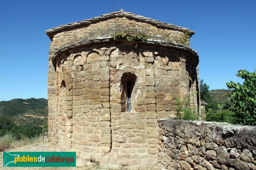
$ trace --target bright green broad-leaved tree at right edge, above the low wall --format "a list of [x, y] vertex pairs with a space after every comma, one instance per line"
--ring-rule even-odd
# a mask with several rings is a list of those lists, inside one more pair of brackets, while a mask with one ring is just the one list
[[229, 108], [234, 112], [235, 123], [243, 125], [256, 125], [256, 72], [248, 72], [239, 70], [237, 77], [243, 78], [244, 83], [227, 83], [231, 94], [228, 95], [228, 101], [231, 101], [234, 107], [230, 108], [230, 104], [221, 105], [220, 107]]

